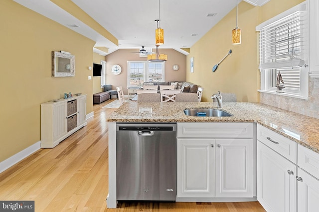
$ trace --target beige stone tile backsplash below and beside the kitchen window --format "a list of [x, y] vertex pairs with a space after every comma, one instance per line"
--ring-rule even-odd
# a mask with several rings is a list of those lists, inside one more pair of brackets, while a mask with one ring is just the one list
[[319, 119], [319, 78], [309, 79], [310, 100], [260, 93], [260, 102]]

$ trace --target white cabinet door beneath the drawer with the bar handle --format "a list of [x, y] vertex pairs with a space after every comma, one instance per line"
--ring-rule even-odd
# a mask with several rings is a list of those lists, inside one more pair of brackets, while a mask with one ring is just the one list
[[296, 171], [295, 164], [257, 141], [257, 199], [267, 212], [296, 212]]

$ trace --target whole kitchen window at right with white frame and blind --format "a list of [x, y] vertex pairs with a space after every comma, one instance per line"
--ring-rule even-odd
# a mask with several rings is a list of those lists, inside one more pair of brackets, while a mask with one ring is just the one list
[[256, 27], [260, 31], [261, 92], [276, 93], [280, 71], [284, 94], [308, 98], [307, 2], [303, 2]]

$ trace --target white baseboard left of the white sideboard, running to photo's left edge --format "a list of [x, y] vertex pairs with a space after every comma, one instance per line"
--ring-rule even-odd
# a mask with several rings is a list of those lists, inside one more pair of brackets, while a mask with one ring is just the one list
[[10, 168], [11, 166], [16, 164], [17, 162], [21, 161], [22, 159], [26, 158], [27, 156], [29, 156], [30, 154], [32, 154], [36, 150], [40, 149], [40, 143], [41, 143], [41, 141], [38, 141], [38, 142], [30, 145], [29, 147], [26, 147], [22, 151], [16, 153], [15, 155], [12, 155], [11, 157], [0, 162], [0, 173], [3, 172], [4, 170]]

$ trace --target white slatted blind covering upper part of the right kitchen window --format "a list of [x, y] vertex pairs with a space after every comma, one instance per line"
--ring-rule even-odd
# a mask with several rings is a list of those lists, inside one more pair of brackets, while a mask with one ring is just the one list
[[260, 29], [260, 69], [302, 67], [305, 11], [296, 11]]

